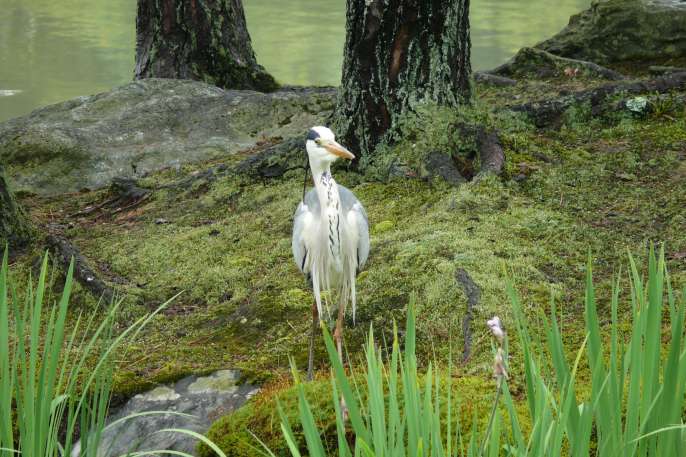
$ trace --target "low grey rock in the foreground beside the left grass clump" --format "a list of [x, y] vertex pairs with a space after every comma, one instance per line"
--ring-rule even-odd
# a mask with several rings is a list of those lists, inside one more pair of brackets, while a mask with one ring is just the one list
[[[114, 411], [107, 423], [151, 411], [175, 414], [143, 415], [114, 425], [103, 433], [98, 456], [115, 457], [133, 451], [152, 450], [174, 450], [195, 455], [195, 438], [182, 433], [158, 432], [176, 428], [204, 434], [212, 422], [239, 408], [257, 393], [255, 386], [238, 385], [238, 379], [237, 371], [221, 370], [209, 376], [189, 376], [173, 385], [159, 386], [136, 395]], [[80, 443], [77, 443], [71, 456], [79, 455]]]

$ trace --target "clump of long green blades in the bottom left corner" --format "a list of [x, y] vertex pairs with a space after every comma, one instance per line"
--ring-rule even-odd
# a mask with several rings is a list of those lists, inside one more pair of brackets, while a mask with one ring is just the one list
[[[56, 457], [71, 455], [74, 449], [80, 456], [96, 457], [103, 432], [114, 425], [106, 425], [114, 371], [112, 356], [124, 343], [135, 339], [167, 303], [118, 335], [114, 324], [121, 301], [108, 309], [99, 307], [88, 316], [80, 314], [68, 329], [73, 262], [61, 298], [51, 308], [46, 306], [47, 272], [46, 255], [37, 283], [29, 279], [25, 296], [19, 297], [9, 279], [5, 249], [0, 266], [0, 457]], [[162, 432], [190, 435], [223, 456], [210, 440], [195, 432], [156, 431]], [[161, 452], [166, 451], [129, 455]]]

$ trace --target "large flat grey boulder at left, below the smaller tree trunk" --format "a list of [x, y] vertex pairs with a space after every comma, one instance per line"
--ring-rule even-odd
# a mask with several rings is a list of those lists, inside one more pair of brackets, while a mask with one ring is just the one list
[[107, 186], [184, 162], [234, 154], [324, 120], [334, 88], [264, 94], [146, 79], [0, 123], [0, 160], [16, 190], [58, 194]]

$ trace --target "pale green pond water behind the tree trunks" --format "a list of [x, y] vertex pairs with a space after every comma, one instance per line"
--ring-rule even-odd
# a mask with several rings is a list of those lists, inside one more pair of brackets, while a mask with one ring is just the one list
[[[559, 31], [590, 0], [472, 0], [472, 64]], [[345, 0], [244, 0], [258, 61], [282, 83], [337, 85]], [[0, 0], [0, 121], [131, 80], [136, 0]]]

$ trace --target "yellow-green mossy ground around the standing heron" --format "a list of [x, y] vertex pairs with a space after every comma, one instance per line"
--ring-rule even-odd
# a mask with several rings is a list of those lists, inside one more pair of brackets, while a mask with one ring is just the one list
[[[489, 112], [519, 91], [522, 102], [537, 97], [533, 86], [481, 88], [477, 106]], [[546, 91], [596, 84], [546, 82]], [[523, 95], [521, 95], [523, 94]], [[479, 108], [479, 109], [482, 109]], [[686, 281], [686, 113], [683, 106], [642, 117], [614, 114], [591, 119], [579, 109], [559, 130], [537, 131], [522, 119], [488, 117], [502, 133], [507, 168], [459, 188], [419, 179], [339, 169], [370, 218], [372, 253], [358, 279], [358, 313], [346, 325], [347, 347], [361, 353], [373, 325], [390, 338], [393, 321], [404, 322], [410, 294], [417, 295], [418, 353], [424, 361], [460, 353], [466, 297], [455, 279], [469, 272], [482, 290], [472, 323], [472, 357], [456, 361], [453, 375], [463, 398], [492, 388], [490, 340], [485, 320], [510, 320], [505, 285], [511, 278], [532, 319], [558, 303], [571, 347], [583, 340], [583, 279], [590, 252], [600, 301], [627, 253], [645, 254], [650, 241], [665, 242], [672, 281]], [[452, 117], [451, 117], [452, 116]], [[450, 130], [456, 114], [427, 111], [411, 132], [386, 153], [408, 158], [438, 147], [455, 154], [459, 138]], [[122, 324], [180, 294], [120, 360], [116, 389], [131, 394], [189, 372], [241, 368], [260, 379], [288, 371], [288, 357], [305, 365], [311, 296], [291, 259], [292, 215], [302, 193], [302, 174], [270, 181], [226, 173], [174, 185], [212, 164], [186, 165], [141, 181], [155, 189], [142, 205], [115, 214], [71, 214], [106, 198], [106, 191], [52, 199], [26, 197], [24, 206], [41, 223], [64, 224], [93, 267], [121, 292]], [[378, 165], [378, 164], [377, 164]], [[37, 253], [15, 260], [25, 275]], [[88, 311], [96, 299], [76, 287], [73, 312]], [[626, 310], [625, 310], [626, 311]], [[513, 386], [518, 355], [512, 351]], [[317, 365], [326, 372], [320, 344]], [[287, 388], [287, 387], [286, 387]], [[326, 383], [310, 389], [326, 389]], [[244, 433], [279, 434], [268, 396], [258, 396], [226, 419]], [[322, 395], [330, 402], [329, 396]], [[271, 402], [271, 403], [270, 403]], [[258, 422], [254, 422], [258, 421]], [[265, 422], [266, 421], [266, 422]], [[265, 425], [267, 424], [267, 425]], [[227, 427], [221, 425], [218, 427]], [[233, 428], [231, 428], [233, 427]], [[242, 428], [241, 428], [242, 427]], [[215, 429], [224, 430], [225, 428]], [[216, 433], [216, 432], [213, 432]], [[244, 436], [244, 435], [240, 435]], [[226, 442], [238, 439], [227, 437]]]

